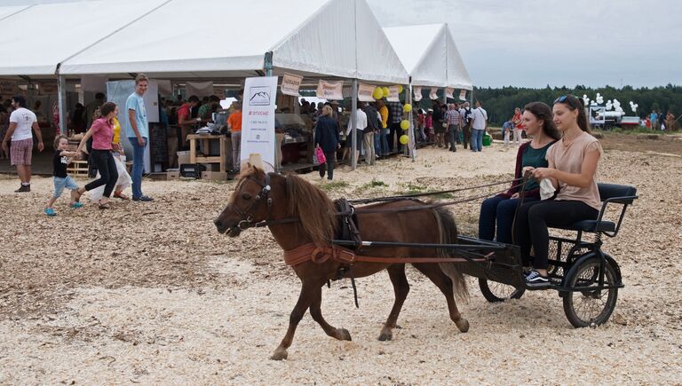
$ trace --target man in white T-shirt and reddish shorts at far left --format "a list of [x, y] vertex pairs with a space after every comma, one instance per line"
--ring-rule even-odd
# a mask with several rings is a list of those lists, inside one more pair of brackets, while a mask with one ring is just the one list
[[38, 127], [36, 114], [26, 108], [26, 98], [21, 95], [12, 97], [12, 114], [10, 115], [10, 128], [3, 138], [3, 150], [7, 153], [7, 143], [12, 139], [10, 146], [10, 161], [16, 165], [17, 174], [21, 181], [20, 188], [14, 193], [27, 193], [31, 191], [31, 157], [33, 155], [33, 136], [31, 129], [38, 139], [38, 151], [43, 151], [43, 135]]

